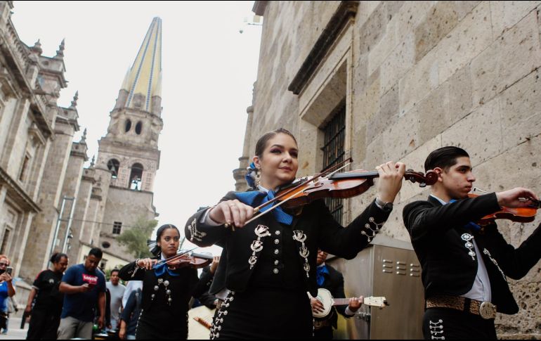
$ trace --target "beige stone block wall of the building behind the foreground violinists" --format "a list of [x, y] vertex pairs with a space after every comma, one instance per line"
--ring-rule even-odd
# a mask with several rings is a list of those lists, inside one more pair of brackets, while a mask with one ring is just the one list
[[[320, 128], [345, 101], [354, 168], [400, 160], [424, 171], [431, 150], [454, 145], [470, 153], [476, 186], [541, 193], [541, 1], [360, 1], [298, 94], [288, 87], [344, 4], [258, 2], [266, 4], [257, 13], [265, 23], [250, 157], [263, 132], [285, 127], [299, 140], [298, 175], [317, 172]], [[348, 200], [345, 220], [374, 193]], [[428, 193], [404, 184], [384, 233], [409, 240], [402, 208]], [[502, 223], [500, 230], [517, 247], [540, 222]], [[540, 266], [511, 283], [521, 311], [498, 316], [500, 336], [541, 336]]]

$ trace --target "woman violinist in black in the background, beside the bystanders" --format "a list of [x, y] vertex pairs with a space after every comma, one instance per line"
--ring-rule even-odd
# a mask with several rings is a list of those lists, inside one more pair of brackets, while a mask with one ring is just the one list
[[160, 262], [177, 255], [180, 233], [176, 226], [162, 225], [156, 233], [157, 257], [137, 259], [120, 269], [124, 281], [143, 281], [142, 312], [137, 340], [178, 340], [188, 337], [188, 302], [207, 290], [199, 284], [197, 269], [176, 262]]

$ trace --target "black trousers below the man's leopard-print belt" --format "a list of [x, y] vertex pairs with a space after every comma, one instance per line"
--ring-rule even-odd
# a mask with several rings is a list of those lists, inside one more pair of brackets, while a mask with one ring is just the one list
[[430, 308], [424, 311], [423, 336], [425, 340], [496, 340], [494, 319], [485, 320], [467, 311]]

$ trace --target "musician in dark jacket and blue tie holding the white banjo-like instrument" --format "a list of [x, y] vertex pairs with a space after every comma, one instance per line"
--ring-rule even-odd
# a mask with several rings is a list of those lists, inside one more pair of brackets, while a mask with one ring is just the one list
[[[332, 297], [334, 298], [344, 298], [344, 277], [339, 271], [335, 270], [332, 266], [325, 264], [327, 259], [327, 252], [318, 250], [318, 260], [316, 264], [318, 268], [316, 269], [316, 278], [318, 282], [318, 289], [323, 288], [330, 291]], [[323, 304], [317, 298], [311, 298], [312, 310], [322, 311]], [[323, 318], [314, 319], [314, 338], [316, 340], [328, 340], [332, 339], [332, 328], [337, 328], [338, 315], [348, 318], [353, 316], [356, 311], [359, 309], [360, 305], [363, 302], [363, 297], [352, 298], [348, 306], [342, 305], [337, 307], [332, 307], [330, 314]]]

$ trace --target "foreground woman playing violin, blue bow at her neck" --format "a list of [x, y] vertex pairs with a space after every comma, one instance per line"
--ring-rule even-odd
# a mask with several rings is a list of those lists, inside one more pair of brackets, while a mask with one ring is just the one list
[[299, 147], [285, 129], [264, 134], [255, 154], [259, 184], [252, 191], [228, 193], [216, 206], [194, 214], [185, 226], [186, 237], [196, 245], [223, 247], [212, 289], [229, 293], [216, 312], [211, 338], [311, 337], [306, 292], [317, 295], [318, 247], [346, 259], [356, 257], [389, 217], [405, 165], [387, 162], [377, 167], [378, 203], [370, 203], [346, 228], [333, 219], [322, 200], [310, 202], [297, 214], [274, 208], [246, 224], [254, 217], [254, 207], [294, 181], [299, 167]]

